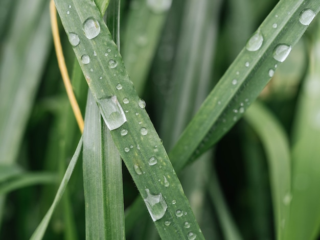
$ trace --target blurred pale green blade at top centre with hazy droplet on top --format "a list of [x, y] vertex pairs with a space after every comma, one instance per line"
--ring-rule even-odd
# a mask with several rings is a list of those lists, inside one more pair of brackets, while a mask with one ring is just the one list
[[122, 56], [135, 90], [141, 94], [172, 0], [131, 2]]

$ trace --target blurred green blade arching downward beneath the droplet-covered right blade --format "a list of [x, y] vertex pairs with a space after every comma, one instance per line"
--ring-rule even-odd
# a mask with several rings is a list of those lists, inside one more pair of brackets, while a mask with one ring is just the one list
[[277, 119], [255, 102], [244, 115], [259, 135], [269, 165], [271, 196], [277, 239], [284, 239], [291, 201], [291, 162], [287, 136]]

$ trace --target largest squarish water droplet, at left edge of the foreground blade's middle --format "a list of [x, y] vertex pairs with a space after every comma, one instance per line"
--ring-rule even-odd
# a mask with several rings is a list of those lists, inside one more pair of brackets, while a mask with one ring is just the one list
[[127, 122], [126, 115], [116, 96], [98, 99], [97, 104], [108, 129], [115, 130]]

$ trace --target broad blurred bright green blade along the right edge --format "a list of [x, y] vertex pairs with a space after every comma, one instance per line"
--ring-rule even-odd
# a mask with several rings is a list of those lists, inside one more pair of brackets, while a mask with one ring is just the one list
[[320, 28], [310, 44], [310, 60], [295, 113], [292, 147], [292, 202], [285, 239], [316, 239], [320, 227]]

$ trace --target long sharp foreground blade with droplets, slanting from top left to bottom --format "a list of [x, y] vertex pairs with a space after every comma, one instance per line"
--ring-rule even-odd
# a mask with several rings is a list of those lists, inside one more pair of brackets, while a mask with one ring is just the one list
[[[203, 239], [144, 102], [133, 89], [99, 10], [92, 2], [57, 0], [55, 3], [65, 31], [76, 45], [74, 51], [90, 90], [159, 234], [163, 239], [195, 236]], [[189, 229], [184, 227], [186, 221], [191, 225]]]

